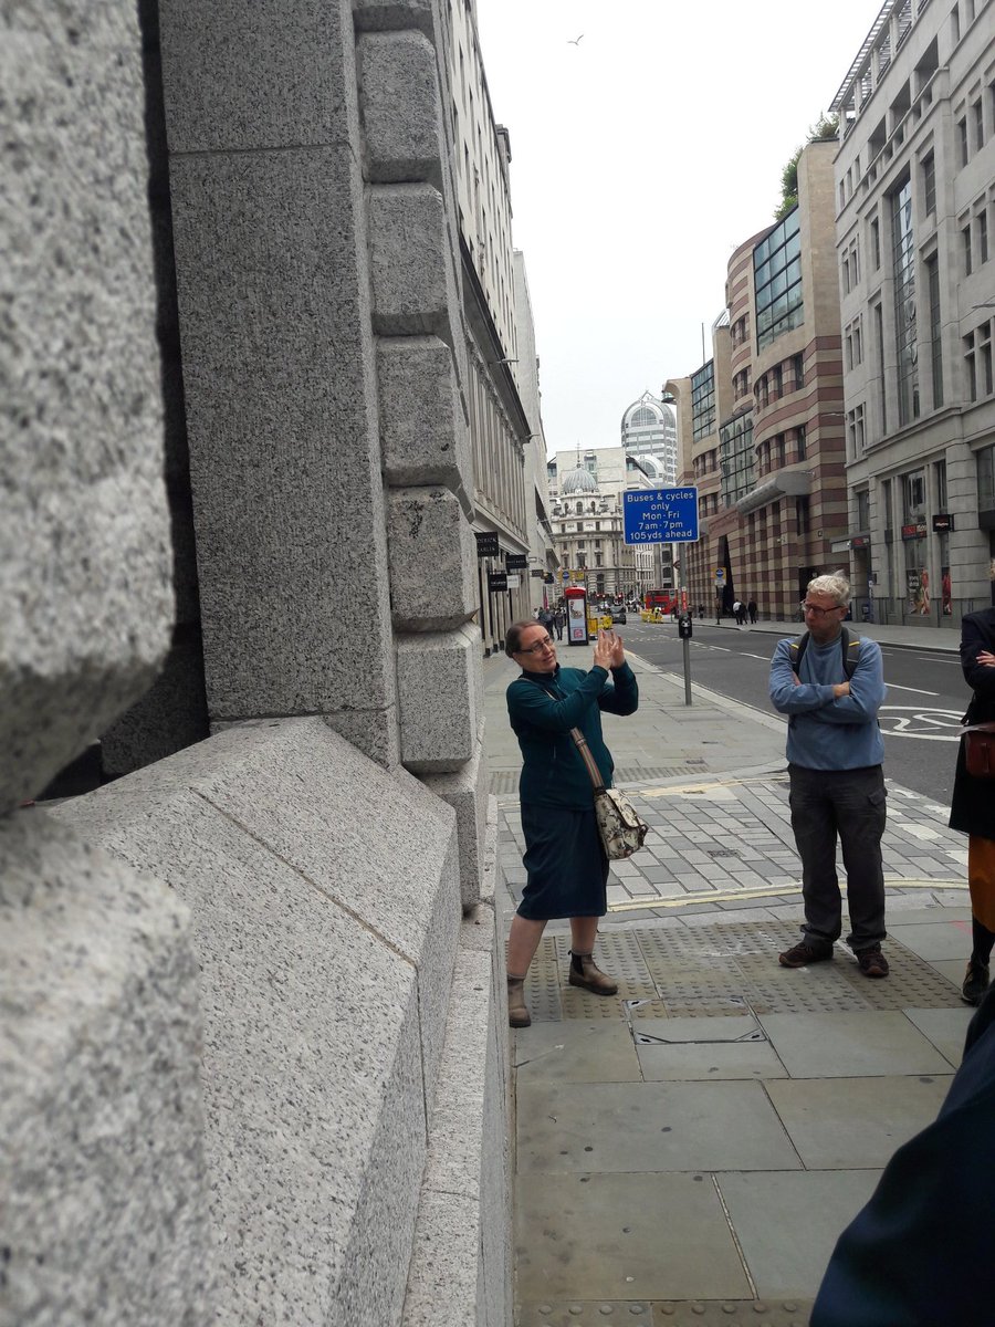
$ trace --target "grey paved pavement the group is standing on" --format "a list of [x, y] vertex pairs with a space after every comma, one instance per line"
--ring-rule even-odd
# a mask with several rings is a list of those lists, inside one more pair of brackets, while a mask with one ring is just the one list
[[[751, 630], [773, 649], [799, 626]], [[686, 706], [683, 677], [629, 657], [639, 710], [606, 715], [605, 734], [650, 835], [609, 878], [596, 957], [620, 991], [568, 986], [569, 924], [551, 922], [527, 982], [532, 1027], [509, 1031], [516, 1322], [801, 1327], [837, 1235], [959, 1064], [967, 840], [886, 764], [892, 975], [862, 977], [842, 945], [830, 963], [780, 967], [801, 920], [784, 721], [698, 686]], [[504, 707], [516, 673], [484, 664], [505, 925], [525, 882]]]

